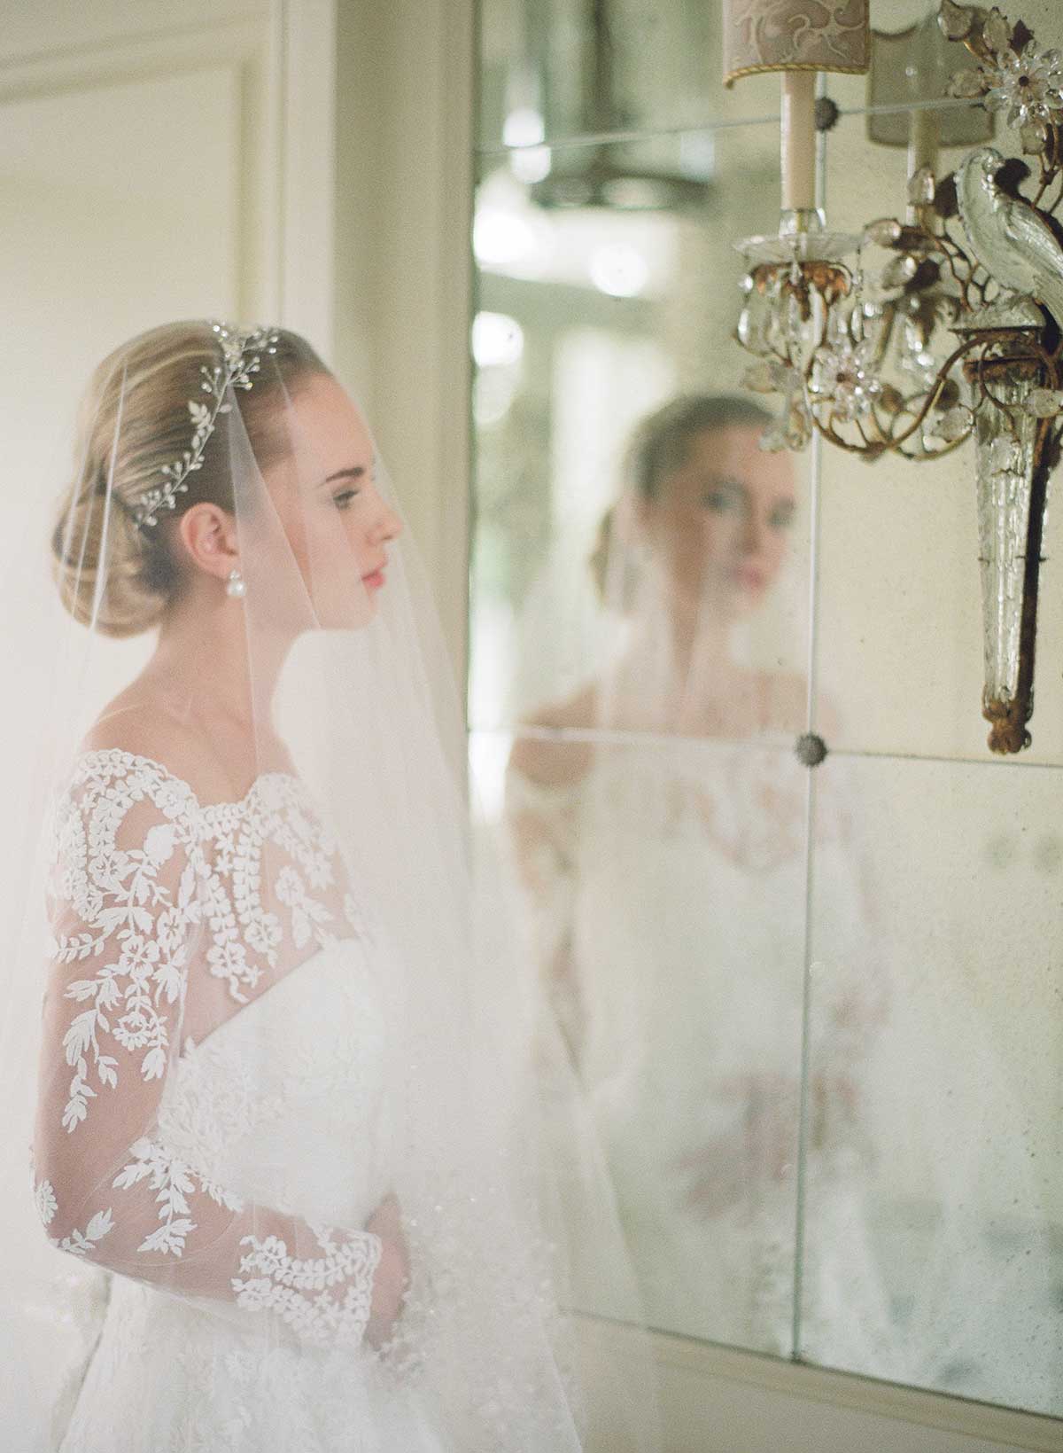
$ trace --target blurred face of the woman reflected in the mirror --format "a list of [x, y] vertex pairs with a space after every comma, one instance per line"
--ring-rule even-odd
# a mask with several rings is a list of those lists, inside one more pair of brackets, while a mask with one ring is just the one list
[[787, 452], [759, 448], [759, 427], [694, 434], [681, 465], [642, 503], [651, 551], [683, 604], [726, 618], [755, 609], [786, 559], [796, 511]]

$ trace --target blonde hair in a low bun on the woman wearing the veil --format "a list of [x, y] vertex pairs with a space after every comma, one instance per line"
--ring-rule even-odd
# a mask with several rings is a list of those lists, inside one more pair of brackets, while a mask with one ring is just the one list
[[[270, 468], [286, 446], [283, 430], [272, 427], [282, 386], [292, 394], [314, 375], [328, 375], [305, 339], [285, 328], [276, 333], [277, 349], [269, 371], [263, 369], [251, 389], [237, 391], [260, 469]], [[225, 449], [219, 448], [221, 440], [208, 439], [202, 466], [187, 477], [187, 493], [176, 497], [173, 513], [167, 511], [154, 526], [139, 527], [134, 519], [139, 495], [160, 482], [164, 465], [190, 448], [195, 426], [189, 400], [205, 398], [200, 365], [213, 368], [219, 360], [209, 323], [167, 323], [109, 353], [89, 382], [74, 453], [80, 475], [58, 503], [51, 536], [52, 575], [74, 619], [83, 625], [94, 620], [105, 635], [150, 631], [177, 597], [184, 577], [174, 551], [173, 522], [184, 510], [205, 501], [234, 509]], [[112, 509], [105, 510], [109, 493]]]

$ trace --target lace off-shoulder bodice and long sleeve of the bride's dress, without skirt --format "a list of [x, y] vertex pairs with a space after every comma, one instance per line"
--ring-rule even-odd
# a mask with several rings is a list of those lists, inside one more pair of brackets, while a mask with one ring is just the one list
[[[354, 946], [367, 934], [341, 927], [364, 912], [308, 789], [266, 773], [240, 802], [202, 806], [160, 763], [91, 751], [51, 827], [58, 972], [45, 995], [51, 1067], [32, 1157], [51, 1245], [179, 1298], [218, 1298], [256, 1314], [256, 1329], [269, 1312], [315, 1345], [360, 1344], [382, 1245], [362, 1229], [359, 1173], [324, 1212], [347, 1229], [325, 1231], [295, 1209], [306, 1190], [298, 1155], [288, 1165], [269, 1142], [272, 1125], [298, 1125], [305, 1107], [318, 1164], [346, 1125], [372, 1174], [359, 1133], [379, 1130], [367, 1067], [379, 1069], [383, 1024]], [[325, 949], [331, 1017], [301, 988]], [[272, 995], [285, 995], [290, 1046], [254, 1027], [218, 1033], [248, 1010], [263, 1029], [270, 1010], [257, 1001]], [[189, 1020], [197, 1042], [182, 1040]], [[261, 1164], [251, 1132], [269, 1146]], [[309, 1203], [335, 1193], [330, 1168]]]

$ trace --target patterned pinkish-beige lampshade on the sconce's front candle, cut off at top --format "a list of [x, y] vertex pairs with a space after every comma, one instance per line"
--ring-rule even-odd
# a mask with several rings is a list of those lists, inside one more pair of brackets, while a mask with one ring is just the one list
[[723, 0], [723, 83], [868, 65], [867, 0]]

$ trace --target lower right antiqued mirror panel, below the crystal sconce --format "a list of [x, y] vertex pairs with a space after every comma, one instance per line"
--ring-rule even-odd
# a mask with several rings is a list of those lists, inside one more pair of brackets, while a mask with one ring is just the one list
[[1059, 1415], [1059, 769], [822, 770], [802, 1350]]

